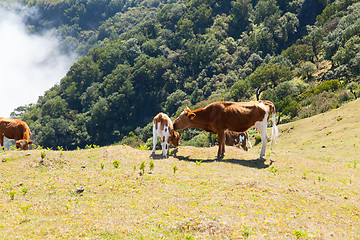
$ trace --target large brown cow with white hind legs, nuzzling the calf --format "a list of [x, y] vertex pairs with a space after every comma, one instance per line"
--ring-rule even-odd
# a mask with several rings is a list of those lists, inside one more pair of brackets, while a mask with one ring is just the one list
[[185, 128], [200, 128], [218, 134], [219, 150], [217, 157], [223, 158], [225, 153], [226, 129], [235, 132], [245, 132], [251, 127], [258, 129], [262, 147], [260, 158], [265, 155], [267, 144], [267, 124], [272, 113], [273, 129], [272, 144], [275, 144], [278, 130], [275, 125], [275, 106], [270, 101], [252, 102], [214, 102], [205, 108], [191, 111], [189, 108], [174, 121], [174, 130]]

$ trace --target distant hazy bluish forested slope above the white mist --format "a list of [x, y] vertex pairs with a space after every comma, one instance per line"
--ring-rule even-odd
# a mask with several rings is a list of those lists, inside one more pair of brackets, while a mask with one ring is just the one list
[[154, 17], [170, 0], [13, 0], [37, 9], [38, 16], [28, 16], [32, 32], [56, 29], [62, 38], [61, 49], [83, 57], [131, 29]]

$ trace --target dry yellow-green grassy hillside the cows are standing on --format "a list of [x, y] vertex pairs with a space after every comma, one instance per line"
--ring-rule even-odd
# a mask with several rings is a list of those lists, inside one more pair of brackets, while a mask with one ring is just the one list
[[0, 239], [359, 239], [359, 112], [280, 125], [265, 162], [259, 146], [220, 161], [216, 147], [1, 152]]

